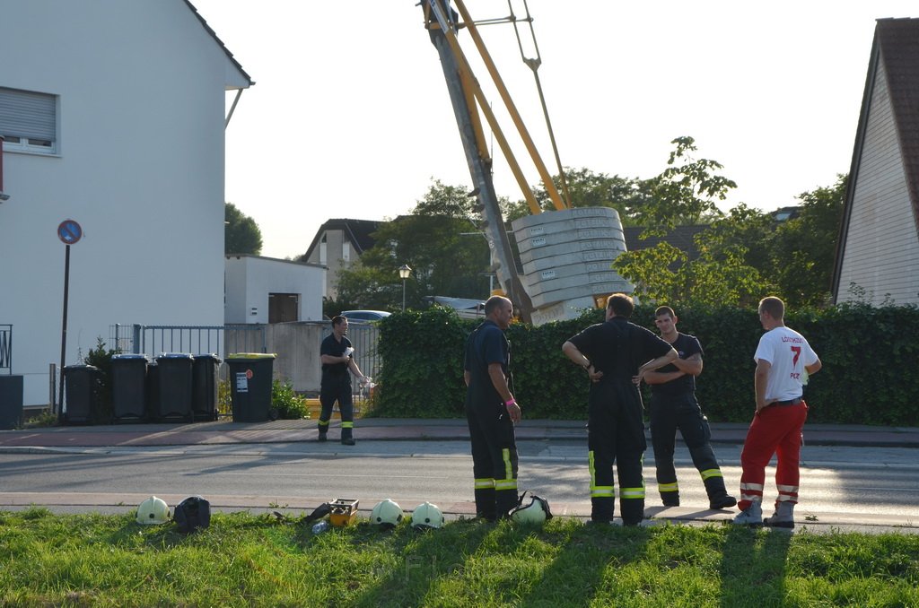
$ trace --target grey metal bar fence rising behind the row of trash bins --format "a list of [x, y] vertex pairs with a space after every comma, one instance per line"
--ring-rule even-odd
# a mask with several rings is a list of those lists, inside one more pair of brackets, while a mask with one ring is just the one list
[[[265, 325], [112, 325], [109, 348], [151, 358], [163, 353], [267, 353]], [[227, 337], [229, 338], [229, 343]]]

